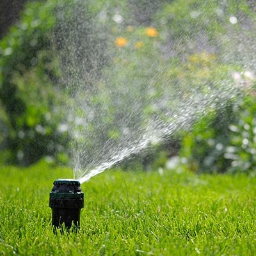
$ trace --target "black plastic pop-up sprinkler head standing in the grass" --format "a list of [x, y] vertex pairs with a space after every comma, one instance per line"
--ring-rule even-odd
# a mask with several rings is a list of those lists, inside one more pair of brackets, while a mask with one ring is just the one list
[[80, 182], [72, 179], [58, 179], [53, 182], [49, 207], [52, 209], [52, 225], [70, 230], [72, 225], [80, 227], [80, 211], [84, 207], [84, 193]]

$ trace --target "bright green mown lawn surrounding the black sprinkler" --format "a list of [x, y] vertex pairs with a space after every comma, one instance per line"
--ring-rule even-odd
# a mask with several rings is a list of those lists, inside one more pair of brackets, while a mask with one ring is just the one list
[[82, 185], [81, 231], [54, 235], [38, 164], [0, 172], [0, 255], [256, 255], [256, 178], [109, 170]]

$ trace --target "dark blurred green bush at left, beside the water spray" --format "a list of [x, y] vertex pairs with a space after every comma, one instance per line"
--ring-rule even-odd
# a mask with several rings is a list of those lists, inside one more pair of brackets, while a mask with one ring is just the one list
[[[57, 55], [69, 47], [65, 39], [70, 38], [61, 37], [61, 33], [65, 33], [70, 24], [78, 26], [78, 20], [86, 21], [87, 26], [83, 27], [83, 38], [76, 37], [76, 44], [85, 39], [102, 45], [102, 38], [98, 40], [101, 33], [93, 32], [93, 8], [65, 0], [26, 4], [20, 21], [1, 40], [0, 143], [9, 150], [8, 161], [27, 165], [49, 156], [58, 163], [67, 163], [68, 116], [61, 106], [65, 105], [68, 95], [60, 78], [65, 79], [70, 70], [64, 68], [65, 76], [60, 75], [63, 59]], [[84, 20], [77, 18], [77, 12]], [[88, 13], [84, 15], [84, 12]], [[56, 33], [58, 37], [54, 36]], [[99, 47], [95, 47], [95, 51], [97, 49]], [[98, 76], [100, 68], [106, 64], [102, 61], [104, 58], [99, 52], [86, 49], [86, 45], [81, 52], [83, 56], [75, 58], [84, 58], [88, 70], [79, 70], [80, 73], [92, 70], [95, 64], [92, 56], [97, 55], [101, 62], [93, 67], [92, 73]]]

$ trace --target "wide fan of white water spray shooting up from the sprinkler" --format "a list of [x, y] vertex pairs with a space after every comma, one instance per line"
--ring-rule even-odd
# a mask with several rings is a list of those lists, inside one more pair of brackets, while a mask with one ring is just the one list
[[98, 9], [93, 1], [63, 1], [56, 8], [52, 42], [67, 109], [59, 131], [68, 132], [81, 184], [182, 138], [196, 120], [244, 93], [241, 72], [254, 77], [255, 12], [248, 1], [159, 2], [145, 23], [134, 22], [135, 2]]

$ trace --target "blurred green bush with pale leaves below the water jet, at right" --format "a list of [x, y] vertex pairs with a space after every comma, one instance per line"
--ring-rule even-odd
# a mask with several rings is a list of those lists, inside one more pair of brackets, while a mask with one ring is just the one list
[[194, 172], [255, 172], [255, 84], [198, 120], [182, 140], [180, 159]]

